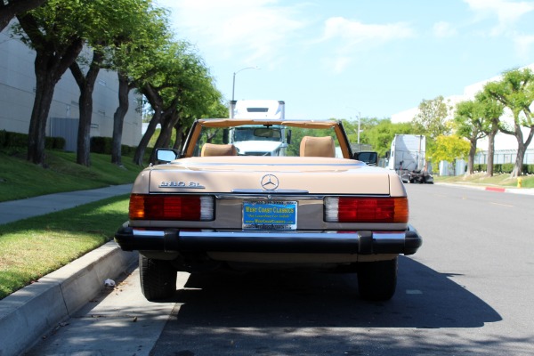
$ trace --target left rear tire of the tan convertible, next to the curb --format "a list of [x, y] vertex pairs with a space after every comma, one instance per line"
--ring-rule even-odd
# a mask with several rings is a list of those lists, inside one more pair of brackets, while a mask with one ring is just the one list
[[176, 270], [167, 261], [139, 255], [142, 295], [149, 301], [168, 299], [176, 292]]

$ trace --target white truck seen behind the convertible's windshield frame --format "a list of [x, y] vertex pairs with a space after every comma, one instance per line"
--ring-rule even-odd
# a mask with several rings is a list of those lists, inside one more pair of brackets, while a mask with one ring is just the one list
[[[285, 102], [245, 100], [230, 102], [230, 118], [285, 119]], [[259, 141], [258, 141], [259, 140]], [[286, 126], [245, 125], [231, 128], [229, 142], [242, 156], [285, 156], [291, 132]]]

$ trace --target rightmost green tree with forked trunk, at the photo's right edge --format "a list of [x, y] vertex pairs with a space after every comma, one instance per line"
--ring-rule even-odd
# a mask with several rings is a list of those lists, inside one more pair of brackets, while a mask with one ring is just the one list
[[[522, 174], [522, 162], [534, 135], [534, 120], [530, 112], [530, 105], [534, 101], [533, 82], [534, 73], [530, 69], [514, 69], [506, 71], [500, 81], [484, 86], [484, 93], [510, 109], [514, 117], [513, 127], [504, 124], [499, 126], [502, 133], [514, 135], [517, 141], [517, 156], [511, 174], [513, 177]], [[530, 128], [526, 139], [522, 127]]]

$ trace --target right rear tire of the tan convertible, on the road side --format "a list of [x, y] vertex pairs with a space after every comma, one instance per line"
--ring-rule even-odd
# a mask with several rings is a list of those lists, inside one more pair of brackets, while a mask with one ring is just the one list
[[358, 263], [360, 296], [369, 301], [392, 298], [397, 287], [397, 260]]

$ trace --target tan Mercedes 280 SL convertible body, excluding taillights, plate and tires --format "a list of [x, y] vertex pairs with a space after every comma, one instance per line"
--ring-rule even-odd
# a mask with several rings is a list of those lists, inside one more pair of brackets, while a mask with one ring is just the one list
[[[198, 120], [190, 131], [180, 158], [165, 164], [150, 166], [139, 174], [134, 182], [133, 195], [209, 195], [214, 197], [214, 218], [210, 221], [173, 221], [173, 220], [130, 220], [125, 223], [123, 231], [117, 233], [116, 239], [124, 249], [138, 249], [144, 258], [159, 261], [176, 262], [183, 255], [179, 239], [200, 241], [214, 239], [214, 244], [206, 243], [206, 249], [195, 245], [195, 254], [202, 253], [214, 263], [225, 263], [232, 267], [239, 265], [260, 265], [263, 267], [281, 266], [315, 268], [333, 268], [340, 265], [352, 265], [362, 262], [389, 261], [403, 253], [407, 231], [417, 238], [416, 247], [407, 249], [405, 254], [415, 253], [420, 246], [420, 237], [409, 226], [408, 221], [399, 223], [360, 222], [338, 223], [325, 219], [326, 197], [371, 197], [401, 198], [407, 197], [400, 177], [392, 171], [365, 163], [352, 158], [343, 126], [336, 121], [280, 121], [280, 120], [242, 120], [218, 119]], [[198, 154], [196, 144], [206, 127], [228, 127], [237, 125], [286, 125], [288, 127], [310, 129], [332, 129], [336, 133], [336, 142], [343, 158], [325, 157], [257, 157], [257, 156], [211, 156], [194, 157]], [[265, 189], [263, 180], [273, 176], [277, 180], [275, 189]], [[244, 202], [254, 201], [291, 201], [296, 202], [296, 229], [293, 231], [250, 231], [244, 229]], [[407, 207], [408, 208], [408, 207]], [[395, 244], [393, 250], [385, 249], [376, 253], [371, 248], [364, 253], [361, 249], [347, 250], [334, 248], [321, 253], [320, 250], [300, 251], [298, 247], [282, 246], [251, 248], [231, 247], [219, 248], [219, 242], [229, 239], [247, 239], [245, 242], [255, 243], [255, 239], [287, 240], [303, 238], [304, 241], [319, 241], [340, 238], [353, 239], [358, 242], [364, 239], [365, 233], [372, 235], [366, 238], [369, 244], [381, 242]], [[180, 237], [174, 237], [174, 234]], [[367, 235], [366, 235], [367, 236]], [[150, 239], [162, 239], [159, 247], [143, 249], [143, 244]], [[130, 244], [138, 239], [141, 242]], [[165, 240], [165, 241], [164, 241]], [[348, 240], [347, 240], [348, 241]], [[269, 242], [269, 241], [267, 241]], [[328, 243], [328, 241], [327, 241]], [[401, 246], [402, 245], [402, 246]], [[252, 246], [252, 245], [251, 245]], [[320, 246], [320, 245], [318, 245]], [[211, 248], [210, 248], [211, 247]], [[379, 247], [379, 246], [378, 246]], [[370, 247], [369, 247], [370, 248]], [[184, 248], [187, 250], [187, 248]], [[395, 260], [396, 262], [396, 260]], [[396, 264], [395, 264], [396, 266]], [[178, 267], [180, 269], [180, 267]], [[395, 267], [396, 275], [396, 267]], [[148, 296], [147, 296], [148, 297]]]

